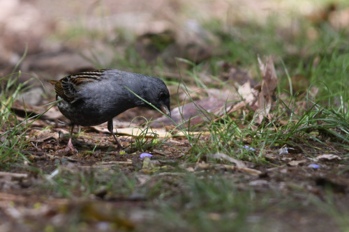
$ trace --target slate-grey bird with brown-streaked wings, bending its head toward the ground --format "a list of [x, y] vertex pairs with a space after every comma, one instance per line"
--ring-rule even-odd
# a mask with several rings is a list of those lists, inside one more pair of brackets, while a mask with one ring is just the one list
[[67, 150], [76, 152], [73, 144], [75, 125], [91, 126], [107, 122], [107, 130], [122, 146], [113, 132], [112, 119], [134, 107], [161, 110], [171, 116], [170, 93], [162, 79], [117, 69], [80, 72], [50, 80], [56, 92], [57, 107], [70, 121]]

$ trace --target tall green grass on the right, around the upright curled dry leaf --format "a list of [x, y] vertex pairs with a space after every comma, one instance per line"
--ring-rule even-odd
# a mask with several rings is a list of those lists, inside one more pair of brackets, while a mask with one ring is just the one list
[[[275, 18], [271, 20], [277, 22]], [[348, 33], [336, 31], [327, 23], [323, 23], [315, 29], [318, 31], [318, 38], [313, 41], [303, 37], [304, 31], [309, 29], [309, 24], [305, 25], [306, 27], [301, 28], [298, 35], [294, 35], [293, 40], [273, 36], [279, 33], [279, 27], [274, 23], [268, 23], [265, 27], [259, 25], [237, 27], [233, 31], [224, 30], [224, 25], [220, 22], [208, 25], [214, 34], [221, 35], [223, 41], [221, 47], [228, 51], [226, 55], [214, 57], [213, 61], [218, 59], [232, 63], [238, 61], [239, 65], [248, 68], [255, 65], [257, 54], [274, 54], [283, 60], [281, 65], [278, 59], [274, 59], [276, 67], [284, 67], [284, 70], [278, 69], [279, 95], [288, 94], [287, 90], [285, 91], [288, 82], [291, 94], [286, 102], [283, 100], [277, 102], [276, 109], [272, 112], [273, 120], [265, 121], [257, 130], [246, 126], [253, 124], [253, 118], [248, 118], [248, 115], [240, 115], [238, 120], [225, 116], [220, 118], [218, 123], [213, 121], [205, 123], [202, 129], [211, 133], [211, 139], [207, 144], [202, 144], [200, 139], [196, 140], [198, 144], [193, 146], [194, 158], [191, 160], [197, 160], [205, 153], [223, 152], [232, 156], [237, 155], [236, 149], [231, 144], [241, 148], [246, 144], [241, 138], [247, 138], [252, 146], [260, 147], [263, 144], [262, 148], [265, 148], [283, 144], [292, 146], [299, 141], [308, 144], [309, 139], [325, 144], [328, 137], [319, 139], [318, 135], [327, 134], [333, 141], [336, 140], [348, 148], [349, 53], [346, 46]], [[256, 28], [258, 33], [255, 33]], [[243, 35], [244, 38], [239, 35]], [[304, 47], [307, 48], [305, 55], [297, 58], [290, 56], [286, 47], [292, 45], [294, 40], [297, 41], [299, 51]], [[298, 73], [304, 75], [304, 79], [292, 83], [293, 77]], [[299, 84], [297, 82], [301, 82], [301, 85], [311, 83], [306, 94], [292, 91], [292, 84]], [[200, 86], [206, 85], [208, 86], [200, 84]], [[318, 88], [318, 95], [315, 98], [311, 97], [311, 87]], [[295, 105], [297, 102], [305, 102], [306, 107], [298, 111]], [[239, 129], [242, 126], [243, 129]]]

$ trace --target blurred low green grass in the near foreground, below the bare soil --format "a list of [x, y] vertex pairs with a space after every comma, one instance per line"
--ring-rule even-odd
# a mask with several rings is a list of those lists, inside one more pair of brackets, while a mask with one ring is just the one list
[[[147, 209], [148, 215], [144, 215], [147, 221], [136, 231], [142, 231], [147, 226], [161, 231], [267, 231], [274, 228], [273, 224], [267, 222], [272, 222], [272, 219], [279, 215], [285, 217], [283, 214], [290, 210], [299, 212], [299, 215], [302, 215], [302, 211], [308, 212], [313, 217], [320, 218], [329, 214], [338, 220], [343, 231], [348, 228], [345, 216], [339, 215], [332, 201], [313, 199], [302, 187], [298, 188], [297, 196], [291, 194], [285, 198], [278, 191], [265, 189], [256, 192], [253, 187], [248, 186], [242, 189], [237, 187], [237, 176], [226, 172], [219, 174], [221, 175], [214, 172], [174, 172], [163, 177], [152, 175], [147, 183], [139, 185], [136, 176], [140, 176], [140, 173], [125, 175], [117, 169], [105, 170], [103, 167], [86, 171], [61, 169], [60, 175], [54, 178], [52, 185], [47, 185], [50, 191], [45, 194], [80, 199], [93, 199], [98, 196], [110, 203], [137, 194], [141, 197], [138, 200], [141, 207], [133, 206], [134, 212]], [[93, 215], [98, 212], [93, 201], [75, 204], [77, 208], [87, 208], [91, 215], [81, 218], [80, 211], [69, 210], [66, 212], [68, 217], [77, 218], [69, 222], [67, 226], [70, 228], [80, 228], [82, 222], [89, 223], [89, 219], [94, 218]], [[124, 206], [119, 206], [119, 210], [109, 210], [108, 218], [118, 217], [120, 209], [124, 210]], [[289, 219], [290, 217], [288, 215]], [[105, 220], [109, 222], [109, 219]], [[110, 222], [115, 223], [114, 220]]]

